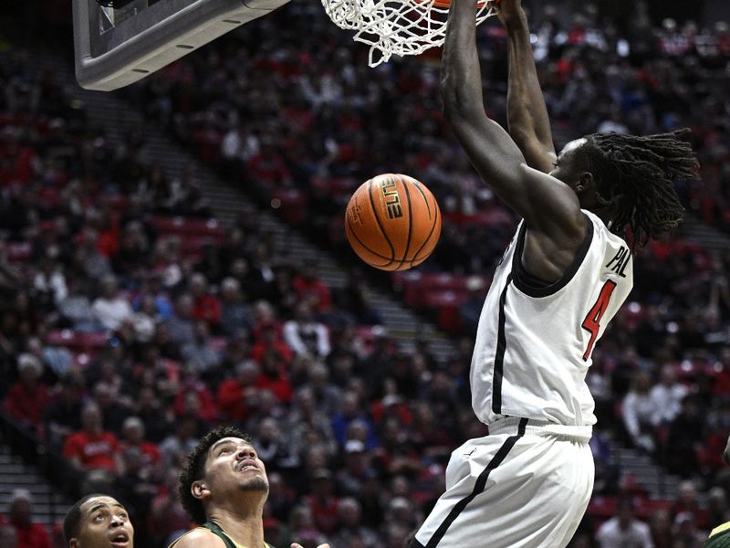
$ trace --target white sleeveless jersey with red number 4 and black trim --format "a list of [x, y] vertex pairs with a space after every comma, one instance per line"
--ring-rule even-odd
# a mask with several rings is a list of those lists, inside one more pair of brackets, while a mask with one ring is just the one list
[[592, 426], [585, 377], [591, 352], [633, 285], [631, 252], [598, 216], [561, 279], [530, 285], [524, 221], [496, 269], [476, 332], [472, 406], [485, 424], [504, 416]]

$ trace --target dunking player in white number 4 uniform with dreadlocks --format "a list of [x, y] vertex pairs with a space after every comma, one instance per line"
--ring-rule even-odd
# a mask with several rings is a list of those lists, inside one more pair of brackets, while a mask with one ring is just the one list
[[696, 178], [686, 132], [593, 134], [556, 156], [527, 18], [502, 0], [507, 134], [485, 115], [474, 0], [452, 0], [443, 112], [474, 167], [522, 221], [476, 334], [472, 404], [489, 436], [454, 450], [446, 491], [412, 548], [568, 544], [593, 487], [591, 352], [632, 284], [631, 247], [676, 227], [679, 178]]

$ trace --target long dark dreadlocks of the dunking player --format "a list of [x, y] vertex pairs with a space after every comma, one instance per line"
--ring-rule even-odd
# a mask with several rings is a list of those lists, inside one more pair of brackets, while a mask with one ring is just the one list
[[647, 136], [587, 137], [587, 167], [598, 180], [600, 204], [609, 210], [611, 230], [631, 230], [634, 248], [672, 233], [682, 221], [684, 208], [674, 183], [699, 178], [689, 135], [690, 130], [683, 129]]

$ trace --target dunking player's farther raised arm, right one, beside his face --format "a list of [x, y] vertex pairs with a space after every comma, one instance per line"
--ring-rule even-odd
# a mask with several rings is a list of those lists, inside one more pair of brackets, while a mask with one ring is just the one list
[[501, 0], [496, 9], [507, 32], [509, 134], [525, 155], [527, 165], [547, 174], [555, 163], [555, 146], [537, 79], [527, 16], [521, 0]]

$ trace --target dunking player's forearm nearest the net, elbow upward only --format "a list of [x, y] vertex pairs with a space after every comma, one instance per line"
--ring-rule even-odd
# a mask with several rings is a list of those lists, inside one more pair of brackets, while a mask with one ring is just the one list
[[441, 100], [447, 120], [477, 110], [484, 113], [475, 20], [473, 0], [453, 0], [441, 68]]

